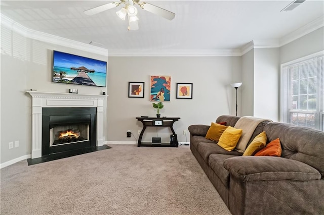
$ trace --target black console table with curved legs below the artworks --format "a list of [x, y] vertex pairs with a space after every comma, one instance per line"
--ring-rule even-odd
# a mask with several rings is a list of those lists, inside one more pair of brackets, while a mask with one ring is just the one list
[[[173, 130], [173, 124], [180, 120], [180, 117], [164, 117], [164, 118], [156, 118], [156, 117], [136, 117], [136, 119], [143, 124], [143, 129], [141, 131], [140, 136], [138, 137], [137, 146], [155, 146], [155, 147], [178, 147], [177, 134]], [[142, 143], [142, 137], [144, 131], [147, 127], [170, 127], [172, 134], [175, 137], [175, 141], [170, 143], [160, 143], [160, 144], [152, 144], [152, 143]]]

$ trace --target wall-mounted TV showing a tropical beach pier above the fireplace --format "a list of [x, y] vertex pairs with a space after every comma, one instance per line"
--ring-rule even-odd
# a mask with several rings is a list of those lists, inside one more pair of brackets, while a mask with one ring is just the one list
[[106, 87], [107, 62], [53, 51], [53, 82]]

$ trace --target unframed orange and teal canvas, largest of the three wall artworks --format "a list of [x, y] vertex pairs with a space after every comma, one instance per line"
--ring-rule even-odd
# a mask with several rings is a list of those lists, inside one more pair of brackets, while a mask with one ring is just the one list
[[150, 101], [170, 101], [171, 76], [151, 76]]

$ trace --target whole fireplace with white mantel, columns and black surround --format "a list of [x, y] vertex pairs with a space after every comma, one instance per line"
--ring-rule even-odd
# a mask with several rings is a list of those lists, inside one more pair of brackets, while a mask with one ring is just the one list
[[[44, 154], [58, 154], [62, 150], [73, 150], [74, 147], [103, 146], [104, 100], [107, 95], [38, 91], [27, 91], [27, 93], [32, 97], [32, 159], [42, 157]], [[71, 113], [71, 110], [74, 113]], [[86, 140], [75, 140], [70, 134], [72, 140], [58, 143], [56, 134], [67, 130], [80, 133]]]

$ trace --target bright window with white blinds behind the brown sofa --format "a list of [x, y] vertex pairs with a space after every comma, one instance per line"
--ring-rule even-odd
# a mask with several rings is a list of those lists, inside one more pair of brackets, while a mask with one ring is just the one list
[[323, 52], [281, 65], [281, 121], [324, 130]]

